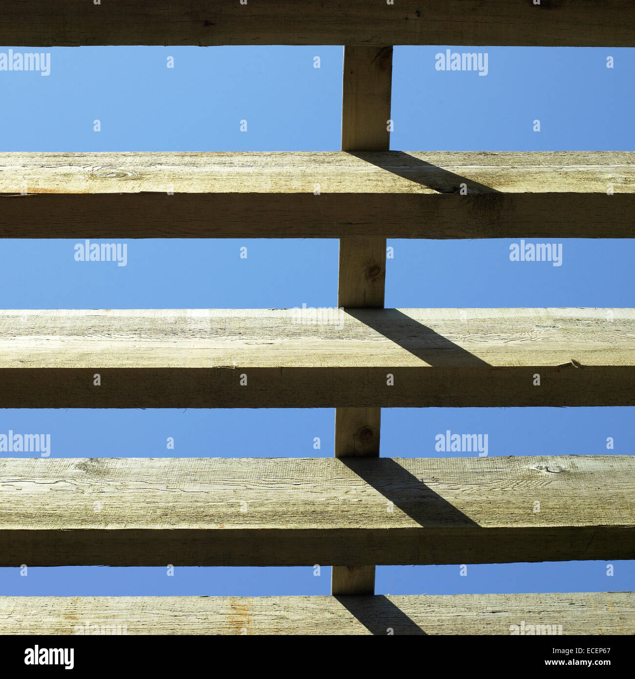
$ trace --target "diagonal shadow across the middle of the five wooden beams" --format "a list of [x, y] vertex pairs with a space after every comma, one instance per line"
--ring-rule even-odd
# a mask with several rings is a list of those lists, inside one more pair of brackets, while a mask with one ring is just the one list
[[397, 309], [345, 308], [344, 312], [429, 365], [490, 365]]

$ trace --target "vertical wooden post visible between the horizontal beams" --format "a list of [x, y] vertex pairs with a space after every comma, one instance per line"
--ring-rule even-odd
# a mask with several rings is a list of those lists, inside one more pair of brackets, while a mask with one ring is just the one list
[[[393, 48], [344, 47], [342, 151], [388, 151]], [[338, 306], [382, 308], [386, 238], [340, 238]], [[381, 408], [335, 409], [335, 457], [378, 457]], [[333, 566], [331, 594], [373, 594], [375, 566]]]

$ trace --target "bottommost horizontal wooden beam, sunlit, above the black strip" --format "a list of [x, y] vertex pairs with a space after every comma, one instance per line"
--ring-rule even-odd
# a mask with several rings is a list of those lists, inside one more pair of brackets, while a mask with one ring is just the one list
[[634, 620], [633, 592], [0, 597], [0, 634], [626, 635]]

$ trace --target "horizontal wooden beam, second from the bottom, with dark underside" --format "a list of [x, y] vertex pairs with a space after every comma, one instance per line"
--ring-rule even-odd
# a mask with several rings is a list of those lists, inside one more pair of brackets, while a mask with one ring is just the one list
[[0, 460], [0, 566], [634, 557], [634, 456]]

